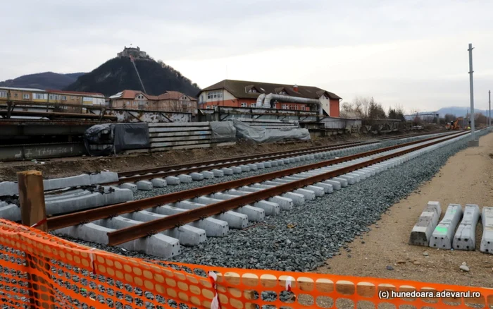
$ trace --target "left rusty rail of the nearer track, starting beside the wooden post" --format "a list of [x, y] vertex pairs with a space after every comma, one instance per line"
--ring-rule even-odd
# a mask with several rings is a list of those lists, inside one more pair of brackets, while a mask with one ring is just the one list
[[[464, 133], [466, 134], [466, 133]], [[457, 135], [457, 134], [455, 134]], [[52, 231], [54, 229], [61, 229], [66, 226], [73, 226], [77, 224], [84, 224], [87, 222], [92, 222], [97, 219], [105, 219], [108, 217], [115, 217], [118, 214], [125, 214], [128, 212], [135, 212], [139, 210], [145, 210], [147, 208], [156, 207], [158, 205], [164, 205], [171, 202], [179, 202], [182, 200], [187, 200], [189, 198], [197, 198], [201, 195], [208, 195], [211, 193], [217, 193], [223, 190], [229, 190], [232, 188], [238, 188], [240, 186], [248, 186], [252, 183], [261, 183], [263, 181], [268, 181], [273, 178], [279, 178], [283, 176], [289, 176], [292, 174], [301, 173], [303, 171], [309, 171], [312, 169], [318, 169], [320, 167], [330, 166], [332, 164], [338, 164], [341, 162], [346, 162], [353, 159], [358, 159], [361, 157], [367, 157], [372, 154], [377, 154], [380, 152], [385, 152], [388, 150], [394, 150], [400, 147], [406, 147], [409, 145], [414, 145], [417, 143], [423, 143], [428, 140], [435, 140], [437, 138], [443, 138], [443, 136], [427, 138], [424, 140], [413, 141], [410, 143], [404, 143], [400, 145], [394, 145], [390, 147], [381, 148], [378, 150], [371, 150], [368, 152], [362, 152], [360, 154], [353, 154], [347, 157], [340, 157], [337, 159], [330, 159], [322, 162], [306, 164], [302, 166], [297, 166], [292, 169], [283, 169], [280, 171], [273, 171], [267, 174], [261, 174], [257, 176], [251, 176], [247, 178], [237, 179], [235, 181], [228, 181], [224, 183], [216, 183], [210, 186], [204, 186], [200, 188], [194, 188], [190, 190], [184, 190], [175, 193], [168, 193], [165, 195], [158, 195], [152, 198], [144, 198], [142, 200], [135, 200], [132, 202], [123, 202], [116, 205], [99, 207], [93, 210], [85, 210], [82, 212], [75, 212], [72, 214], [65, 214], [62, 216], [51, 217], [48, 219], [48, 229]]]

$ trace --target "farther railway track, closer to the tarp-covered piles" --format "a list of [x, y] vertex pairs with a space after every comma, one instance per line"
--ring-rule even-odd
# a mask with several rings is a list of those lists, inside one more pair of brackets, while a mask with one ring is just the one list
[[[442, 134], [446, 135], [450, 133]], [[192, 162], [187, 164], [159, 166], [151, 169], [124, 171], [118, 173], [118, 181], [104, 184], [106, 186], [123, 185], [122, 188], [130, 188], [134, 191], [138, 189], [151, 190], [154, 187], [162, 187], [168, 184], [177, 185], [180, 183], [200, 181], [204, 178], [221, 177], [225, 175], [239, 174], [244, 171], [265, 169], [270, 166], [277, 166], [278, 164], [289, 164], [314, 158], [319, 159], [322, 157], [323, 152], [334, 150], [354, 150], [358, 147], [377, 145], [382, 140], [416, 138], [422, 135], [429, 134], [398, 135], [391, 138], [381, 138], [377, 141], [341, 143], [335, 145], [309, 147], [303, 150], [270, 152], [266, 154], [253, 154], [242, 157], [215, 159], [206, 162]]]

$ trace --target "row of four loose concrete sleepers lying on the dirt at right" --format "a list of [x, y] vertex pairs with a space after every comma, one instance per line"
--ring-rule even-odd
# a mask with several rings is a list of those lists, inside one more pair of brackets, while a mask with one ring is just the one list
[[481, 213], [475, 204], [466, 204], [464, 209], [460, 204], [449, 204], [442, 221], [438, 222], [441, 212], [439, 202], [428, 202], [411, 231], [411, 245], [473, 251], [476, 226], [481, 217], [480, 251], [493, 254], [493, 207], [483, 207]]

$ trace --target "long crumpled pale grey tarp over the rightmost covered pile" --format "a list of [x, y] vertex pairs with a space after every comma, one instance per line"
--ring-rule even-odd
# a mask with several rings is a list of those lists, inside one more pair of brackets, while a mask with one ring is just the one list
[[237, 138], [254, 140], [256, 143], [274, 143], [281, 140], [310, 140], [310, 133], [306, 128], [255, 128], [246, 123], [233, 119]]

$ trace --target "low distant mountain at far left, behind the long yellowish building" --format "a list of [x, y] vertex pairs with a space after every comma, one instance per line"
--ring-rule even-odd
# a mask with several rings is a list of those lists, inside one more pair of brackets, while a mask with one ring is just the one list
[[63, 89], [74, 83], [77, 78], [85, 73], [68, 73], [59, 74], [53, 72], [35, 73], [22, 75], [13, 80], [5, 80], [0, 82], [3, 87], [23, 87], [23, 88], [39, 88], [39, 89]]

